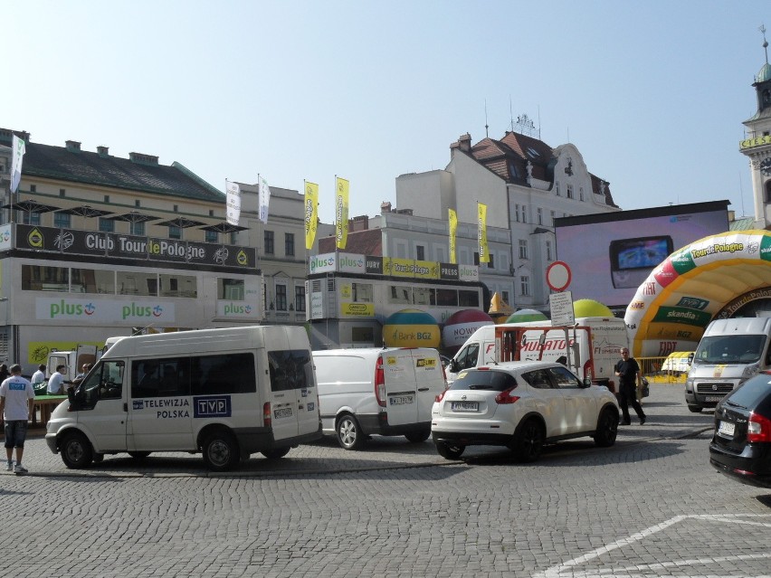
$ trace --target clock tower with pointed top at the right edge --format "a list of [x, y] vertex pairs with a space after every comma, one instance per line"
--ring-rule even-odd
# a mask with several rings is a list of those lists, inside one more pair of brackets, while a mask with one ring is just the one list
[[761, 26], [766, 64], [760, 69], [752, 86], [757, 93], [757, 112], [747, 118], [747, 138], [739, 150], [749, 157], [752, 191], [755, 200], [755, 226], [771, 229], [771, 65], [768, 64], [766, 27]]

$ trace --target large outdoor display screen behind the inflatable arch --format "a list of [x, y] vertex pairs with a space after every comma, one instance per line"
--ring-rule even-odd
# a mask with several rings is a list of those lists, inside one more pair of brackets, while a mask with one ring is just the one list
[[567, 289], [609, 308], [626, 308], [651, 271], [673, 251], [728, 231], [728, 201], [564, 217], [555, 220], [557, 259]]

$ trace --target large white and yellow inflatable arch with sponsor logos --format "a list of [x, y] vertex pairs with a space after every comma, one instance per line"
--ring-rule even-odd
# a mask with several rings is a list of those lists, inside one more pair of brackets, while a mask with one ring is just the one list
[[633, 355], [693, 351], [712, 319], [771, 299], [771, 232], [710, 235], [674, 251], [626, 308]]

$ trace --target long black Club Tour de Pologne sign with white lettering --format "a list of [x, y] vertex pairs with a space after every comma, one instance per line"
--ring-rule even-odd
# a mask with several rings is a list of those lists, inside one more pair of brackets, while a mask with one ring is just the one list
[[174, 261], [194, 265], [237, 267], [244, 270], [255, 268], [257, 263], [257, 251], [250, 247], [24, 224], [16, 224], [14, 245], [21, 250], [135, 261]]

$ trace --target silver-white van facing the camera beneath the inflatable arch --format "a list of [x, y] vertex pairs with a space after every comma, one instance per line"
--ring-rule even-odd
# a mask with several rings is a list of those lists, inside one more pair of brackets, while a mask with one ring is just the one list
[[718, 405], [728, 393], [771, 366], [771, 318], [715, 319], [701, 336], [685, 380], [691, 412]]

